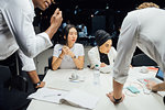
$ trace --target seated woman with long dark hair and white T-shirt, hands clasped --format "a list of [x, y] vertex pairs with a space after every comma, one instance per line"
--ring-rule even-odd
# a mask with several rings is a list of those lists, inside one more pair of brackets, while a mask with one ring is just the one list
[[68, 24], [63, 30], [63, 37], [59, 44], [54, 46], [52, 69], [82, 69], [84, 68], [84, 46], [76, 43], [78, 37], [75, 25]]

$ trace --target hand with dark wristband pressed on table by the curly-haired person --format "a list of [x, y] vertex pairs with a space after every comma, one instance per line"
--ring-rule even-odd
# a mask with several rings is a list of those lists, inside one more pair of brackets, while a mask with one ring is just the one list
[[121, 99], [118, 101], [118, 99], [117, 99], [117, 100], [114, 99], [113, 91], [111, 91], [111, 92], [107, 94], [107, 97], [108, 97], [114, 105], [118, 105], [118, 103], [120, 103], [120, 102], [123, 101], [123, 99], [124, 99], [125, 96], [122, 94]]

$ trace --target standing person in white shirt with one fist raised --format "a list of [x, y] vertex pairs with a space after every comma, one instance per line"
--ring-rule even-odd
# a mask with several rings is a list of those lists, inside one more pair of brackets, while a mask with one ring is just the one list
[[[9, 66], [15, 62], [15, 53], [20, 48], [28, 57], [35, 57], [38, 53], [52, 46], [51, 38], [59, 28], [62, 11], [56, 9], [51, 18], [51, 26], [43, 33], [35, 34], [33, 28], [34, 8], [46, 10], [54, 0], [1, 0], [0, 3], [0, 65]], [[25, 57], [26, 57], [25, 56]], [[8, 62], [8, 63], [7, 63]], [[22, 58], [34, 65], [33, 59]], [[28, 63], [26, 63], [28, 64]], [[30, 64], [28, 64], [30, 66]], [[32, 66], [31, 65], [31, 66]], [[28, 70], [28, 69], [26, 69]], [[33, 82], [40, 82], [35, 70], [29, 69]], [[43, 84], [43, 82], [41, 82]]]

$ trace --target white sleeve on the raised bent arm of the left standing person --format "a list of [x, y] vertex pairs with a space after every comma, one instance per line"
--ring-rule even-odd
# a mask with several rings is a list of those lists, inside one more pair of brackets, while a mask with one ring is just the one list
[[35, 34], [33, 28], [34, 9], [30, 6], [29, 0], [10, 0], [1, 11], [18, 45], [26, 56], [35, 57], [52, 46], [46, 33]]

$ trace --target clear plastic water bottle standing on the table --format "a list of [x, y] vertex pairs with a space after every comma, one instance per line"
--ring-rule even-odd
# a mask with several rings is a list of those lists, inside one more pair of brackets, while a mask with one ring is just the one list
[[94, 84], [95, 85], [99, 85], [100, 84], [99, 65], [95, 65], [95, 68], [94, 68]]

